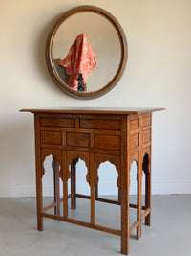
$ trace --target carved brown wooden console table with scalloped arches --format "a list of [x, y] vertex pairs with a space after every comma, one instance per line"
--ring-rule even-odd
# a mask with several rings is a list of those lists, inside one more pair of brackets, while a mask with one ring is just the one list
[[[129, 236], [137, 228], [141, 237], [141, 222], [150, 225], [151, 220], [151, 146], [152, 112], [156, 109], [126, 108], [63, 108], [23, 109], [32, 112], [35, 122], [37, 228], [43, 230], [43, 217], [94, 228], [121, 237], [121, 253], [129, 252]], [[43, 162], [53, 155], [54, 203], [43, 208]], [[87, 181], [91, 196], [84, 197], [75, 191], [75, 164], [81, 158], [88, 168]], [[101, 199], [97, 193], [97, 169], [109, 160], [117, 168], [118, 200]], [[138, 165], [138, 203], [129, 203], [130, 168]], [[71, 171], [69, 165], [71, 164]], [[145, 205], [142, 205], [142, 171], [145, 173]], [[63, 181], [63, 198], [60, 198], [59, 177]], [[68, 195], [68, 179], [71, 177], [71, 194]], [[76, 197], [90, 198], [91, 221], [76, 221], [68, 217], [68, 198], [71, 208], [76, 207]], [[121, 205], [120, 230], [96, 224], [96, 200]], [[60, 204], [63, 202], [63, 216]], [[129, 225], [129, 207], [137, 209], [137, 221]], [[47, 210], [54, 208], [54, 214]], [[143, 213], [142, 213], [143, 212]]]

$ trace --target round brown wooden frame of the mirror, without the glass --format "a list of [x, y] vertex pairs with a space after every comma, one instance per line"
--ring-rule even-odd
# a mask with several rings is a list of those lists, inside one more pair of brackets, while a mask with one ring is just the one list
[[[62, 81], [60, 77], [57, 75], [57, 72], [55, 70], [55, 67], [53, 65], [53, 58], [52, 58], [52, 49], [53, 49], [53, 38], [58, 30], [59, 26], [71, 15], [77, 12], [96, 12], [102, 16], [104, 16], [116, 29], [117, 35], [120, 41], [120, 49], [121, 49], [121, 58], [119, 62], [119, 66], [117, 69], [117, 73], [114, 76], [114, 78], [109, 81], [106, 85], [103, 85], [103, 87], [95, 92], [87, 92], [87, 93], [81, 93], [78, 91], [74, 91], [74, 89], [70, 88], [70, 86]], [[50, 70], [50, 73], [53, 77], [53, 80], [56, 82], [56, 84], [64, 90], [67, 94], [78, 98], [78, 99], [94, 99], [97, 97], [100, 97], [104, 95], [105, 93], [109, 92], [114, 86], [117, 84], [117, 82], [120, 80], [122, 77], [122, 74], [124, 72], [124, 69], [126, 67], [127, 63], [127, 55], [128, 55], [128, 47], [127, 47], [127, 41], [126, 41], [126, 36], [123, 32], [122, 27], [120, 24], [117, 22], [117, 19], [110, 14], [109, 12], [106, 12], [105, 10], [95, 7], [95, 6], [78, 6], [75, 7], [74, 9], [70, 9], [67, 12], [64, 12], [64, 14], [59, 18], [55, 25], [53, 26], [53, 29], [51, 30], [50, 34], [48, 35], [47, 39], [47, 47], [46, 47], [46, 59], [47, 59], [47, 65]]]

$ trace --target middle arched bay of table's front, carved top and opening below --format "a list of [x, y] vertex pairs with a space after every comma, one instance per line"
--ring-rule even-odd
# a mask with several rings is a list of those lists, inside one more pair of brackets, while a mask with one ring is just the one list
[[67, 152], [68, 199], [71, 200], [69, 218], [90, 221], [90, 160], [89, 153]]

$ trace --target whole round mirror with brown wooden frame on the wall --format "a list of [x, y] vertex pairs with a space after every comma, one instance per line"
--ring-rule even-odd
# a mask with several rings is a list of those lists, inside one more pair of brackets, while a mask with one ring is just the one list
[[47, 63], [53, 79], [68, 94], [99, 97], [121, 78], [127, 42], [116, 18], [93, 6], [65, 12], [48, 36]]

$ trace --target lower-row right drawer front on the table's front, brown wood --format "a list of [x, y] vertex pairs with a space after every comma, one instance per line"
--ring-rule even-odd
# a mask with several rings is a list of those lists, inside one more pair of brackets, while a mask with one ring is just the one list
[[120, 150], [120, 137], [113, 135], [96, 135], [96, 149]]

